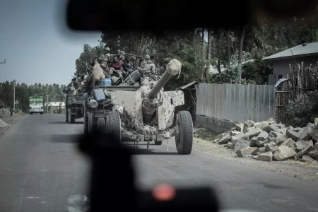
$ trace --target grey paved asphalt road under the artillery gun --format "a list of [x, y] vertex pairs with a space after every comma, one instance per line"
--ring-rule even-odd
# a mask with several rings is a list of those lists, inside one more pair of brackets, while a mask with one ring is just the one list
[[[86, 194], [88, 161], [74, 143], [82, 132], [82, 122], [66, 124], [63, 114], [28, 115], [11, 126], [0, 138], [0, 211], [66, 211], [69, 195]], [[225, 208], [318, 211], [317, 184], [195, 151], [177, 155], [174, 143], [166, 148], [151, 146], [134, 157], [141, 188], [208, 184]]]

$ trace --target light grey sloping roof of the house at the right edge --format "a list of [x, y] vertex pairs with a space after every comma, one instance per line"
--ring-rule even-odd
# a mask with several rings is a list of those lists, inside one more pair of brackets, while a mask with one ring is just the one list
[[310, 42], [290, 49], [286, 49], [283, 52], [278, 52], [263, 59], [278, 59], [283, 57], [303, 56], [304, 54], [318, 54], [318, 42]]

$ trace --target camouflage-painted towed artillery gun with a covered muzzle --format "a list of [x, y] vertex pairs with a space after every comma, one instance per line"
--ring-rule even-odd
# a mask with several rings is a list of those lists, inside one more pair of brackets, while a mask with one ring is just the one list
[[161, 145], [175, 136], [177, 152], [190, 154], [193, 141], [191, 114], [175, 112], [175, 107], [184, 105], [184, 93], [182, 90], [163, 90], [165, 83], [180, 71], [181, 63], [172, 59], [158, 81], [145, 77], [141, 78], [141, 86], [95, 86], [84, 98], [84, 132], [98, 127], [114, 134], [120, 141], [136, 141], [137, 145], [141, 141]]

